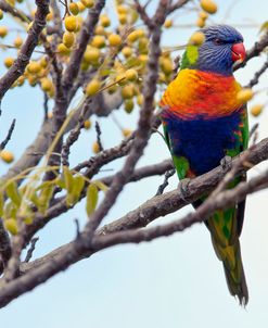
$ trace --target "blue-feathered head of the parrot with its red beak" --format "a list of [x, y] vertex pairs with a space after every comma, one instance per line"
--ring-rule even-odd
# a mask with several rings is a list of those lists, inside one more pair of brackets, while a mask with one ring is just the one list
[[245, 59], [242, 35], [228, 25], [213, 25], [201, 31], [205, 35], [205, 41], [199, 48], [193, 68], [231, 75], [233, 64]]

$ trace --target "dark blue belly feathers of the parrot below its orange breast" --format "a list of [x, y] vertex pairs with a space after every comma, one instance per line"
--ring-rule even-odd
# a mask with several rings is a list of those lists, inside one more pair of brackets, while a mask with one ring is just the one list
[[220, 164], [226, 150], [238, 147], [235, 131], [241, 122], [240, 113], [205, 119], [182, 119], [168, 113], [163, 117], [170, 138], [171, 152], [184, 156], [191, 171], [201, 175]]

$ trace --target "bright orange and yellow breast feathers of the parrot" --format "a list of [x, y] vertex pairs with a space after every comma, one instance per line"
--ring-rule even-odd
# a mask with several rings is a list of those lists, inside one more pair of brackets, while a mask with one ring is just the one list
[[161, 105], [184, 118], [222, 117], [241, 108], [237, 100], [240, 90], [233, 76], [186, 68], [169, 84]]

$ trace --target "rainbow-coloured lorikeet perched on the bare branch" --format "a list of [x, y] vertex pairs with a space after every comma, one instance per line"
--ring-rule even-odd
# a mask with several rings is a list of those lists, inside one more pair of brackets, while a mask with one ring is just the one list
[[[247, 148], [246, 106], [237, 99], [241, 86], [232, 74], [233, 63], [245, 59], [243, 37], [231, 26], [201, 29], [205, 41], [186, 50], [177, 77], [167, 87], [161, 105], [167, 146], [179, 179], [193, 178], [220, 165]], [[234, 187], [245, 177], [235, 178]], [[197, 207], [206, 195], [193, 203]], [[245, 201], [217, 211], [205, 224], [222, 262], [228, 288], [246, 304], [248, 292], [240, 241]]]

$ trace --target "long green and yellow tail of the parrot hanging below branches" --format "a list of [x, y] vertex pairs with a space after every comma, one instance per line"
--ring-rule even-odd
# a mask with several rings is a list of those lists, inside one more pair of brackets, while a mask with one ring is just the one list
[[248, 302], [245, 274], [242, 264], [237, 227], [237, 210], [217, 211], [206, 222], [218, 258], [222, 262], [231, 295], [238, 297], [241, 305]]

